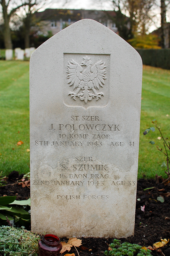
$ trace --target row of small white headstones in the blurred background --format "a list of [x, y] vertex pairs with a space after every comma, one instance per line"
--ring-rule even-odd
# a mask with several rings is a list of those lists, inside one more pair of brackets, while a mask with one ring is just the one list
[[[26, 58], [30, 58], [32, 53], [35, 51], [35, 47], [26, 48], [22, 50], [21, 48], [15, 48], [15, 60], [24, 60], [24, 55]], [[6, 49], [5, 50], [5, 60], [13, 59], [13, 50]]]

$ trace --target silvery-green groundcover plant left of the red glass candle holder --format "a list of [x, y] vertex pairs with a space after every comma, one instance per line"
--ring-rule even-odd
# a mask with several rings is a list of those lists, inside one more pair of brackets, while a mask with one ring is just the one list
[[0, 252], [4, 256], [37, 256], [39, 239], [24, 227], [0, 226]]

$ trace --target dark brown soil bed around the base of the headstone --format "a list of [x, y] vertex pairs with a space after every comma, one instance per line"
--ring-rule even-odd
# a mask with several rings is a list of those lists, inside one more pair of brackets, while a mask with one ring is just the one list
[[[22, 176], [22, 175], [21, 175]], [[21, 176], [19, 178], [21, 178]], [[7, 185], [0, 187], [0, 196], [14, 196], [17, 200], [27, 200], [30, 197], [30, 188], [22, 188], [21, 185], [14, 184], [18, 179], [18, 174], [13, 172], [9, 175]], [[170, 238], [170, 183], [161, 184], [162, 179], [156, 183], [153, 179], [140, 179], [137, 183], [135, 232], [133, 237], [121, 238], [122, 242], [137, 243], [142, 246], [152, 246], [153, 243], [161, 241], [160, 239]], [[154, 187], [154, 188], [152, 188]], [[145, 190], [146, 188], [152, 188]], [[163, 196], [165, 202], [159, 202], [158, 196]], [[141, 206], [145, 205], [145, 211], [141, 211]], [[62, 241], [67, 239], [62, 238]], [[82, 238], [82, 245], [78, 248], [80, 256], [103, 256], [103, 252], [108, 249], [108, 244], [112, 239], [105, 238]], [[161, 248], [165, 256], [170, 256], [170, 242], [167, 246]], [[66, 251], [68, 253], [68, 251]], [[72, 248], [69, 253], [77, 251]], [[65, 253], [64, 253], [65, 254]], [[64, 255], [63, 254], [63, 255]], [[157, 251], [152, 251], [152, 255], [161, 255]]]

